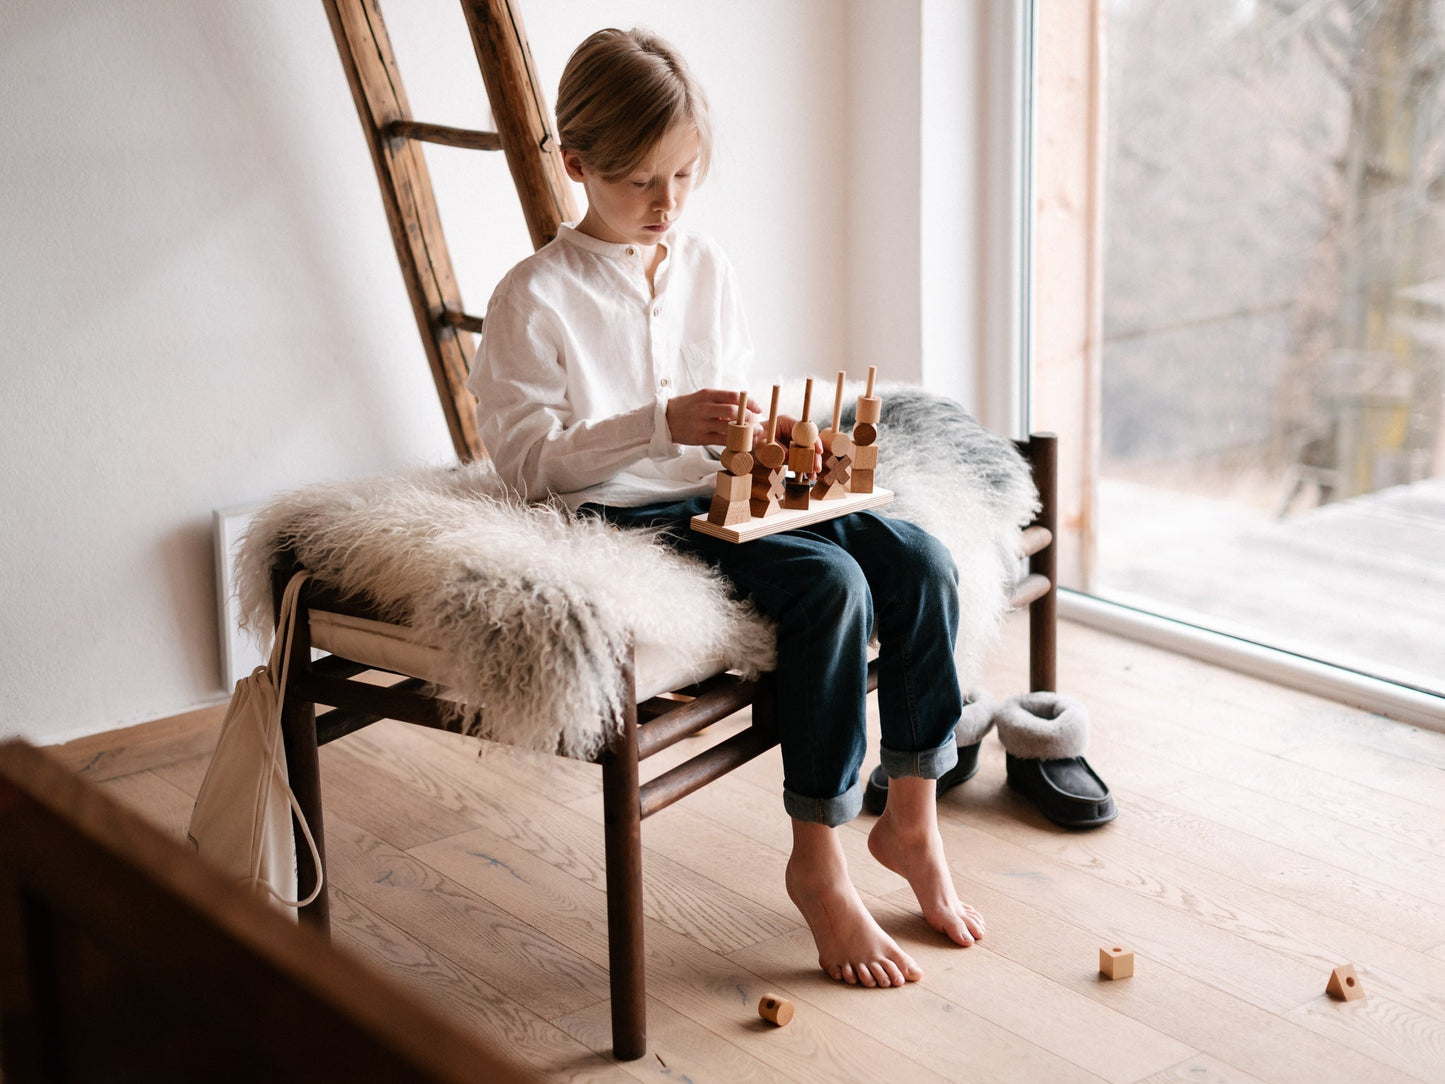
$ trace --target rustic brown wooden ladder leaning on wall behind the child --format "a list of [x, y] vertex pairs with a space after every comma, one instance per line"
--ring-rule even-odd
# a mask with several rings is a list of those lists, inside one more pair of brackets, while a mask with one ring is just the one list
[[561, 223], [577, 218], [522, 16], [512, 0], [461, 0], [497, 127], [474, 132], [412, 117], [377, 0], [322, 3], [371, 149], [396, 259], [452, 447], [464, 463], [480, 458], [486, 451], [465, 384], [471, 335], [481, 330], [481, 318], [462, 308], [420, 142], [506, 153], [535, 247], [551, 241]]

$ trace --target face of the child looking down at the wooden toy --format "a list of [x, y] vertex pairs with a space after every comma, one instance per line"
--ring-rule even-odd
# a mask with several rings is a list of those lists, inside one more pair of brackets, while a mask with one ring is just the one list
[[653, 246], [682, 215], [698, 168], [698, 133], [675, 127], [637, 172], [604, 181], [575, 153], [562, 156], [566, 173], [587, 191], [587, 214], [577, 228], [600, 241]]

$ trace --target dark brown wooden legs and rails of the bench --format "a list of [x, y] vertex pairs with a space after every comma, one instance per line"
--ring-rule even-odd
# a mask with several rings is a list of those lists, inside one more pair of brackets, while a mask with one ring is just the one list
[[[1029, 606], [1029, 672], [1032, 689], [1053, 688], [1055, 659], [1055, 457], [1056, 439], [1036, 434], [1019, 442], [1027, 458], [1042, 512], [1025, 530], [1029, 571], [1014, 587], [1010, 603]], [[276, 598], [296, 572], [286, 564], [273, 571]], [[357, 678], [373, 669], [361, 662], [335, 655], [312, 661], [308, 614], [312, 608], [376, 619], [364, 603], [340, 598], [325, 584], [308, 580], [296, 610], [292, 642], [290, 676], [282, 715], [286, 765], [296, 799], [311, 824], [322, 866], [325, 833], [321, 809], [321, 772], [318, 747], [344, 737], [381, 718], [394, 718], [442, 730], [458, 730], [455, 713], [422, 678], [400, 675], [393, 685], [379, 687]], [[627, 711], [613, 743], [597, 759], [603, 769], [603, 809], [607, 853], [607, 944], [613, 1003], [613, 1052], [629, 1061], [647, 1049], [646, 984], [643, 976], [643, 896], [642, 896], [642, 822], [707, 783], [738, 767], [777, 744], [776, 698], [772, 675], [743, 681], [733, 674], [718, 674], [670, 697], [655, 697], [640, 704], [633, 689], [633, 661], [621, 661], [621, 675], [629, 689]], [[877, 674], [868, 671], [868, 689], [877, 687]], [[316, 704], [331, 705], [318, 715]], [[751, 708], [751, 726], [696, 753], [668, 772], [640, 783], [639, 765], [649, 756], [696, 734], [743, 708]], [[299, 835], [301, 892], [308, 895], [316, 883], [311, 853]], [[302, 911], [302, 919], [322, 929], [329, 925], [327, 890], [322, 886], [315, 903]]]

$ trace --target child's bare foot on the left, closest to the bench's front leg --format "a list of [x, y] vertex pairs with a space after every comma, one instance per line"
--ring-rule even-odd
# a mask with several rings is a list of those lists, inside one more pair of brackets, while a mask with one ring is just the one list
[[793, 821], [788, 895], [812, 931], [818, 965], [832, 978], [850, 986], [903, 986], [923, 977], [863, 905], [835, 830]]

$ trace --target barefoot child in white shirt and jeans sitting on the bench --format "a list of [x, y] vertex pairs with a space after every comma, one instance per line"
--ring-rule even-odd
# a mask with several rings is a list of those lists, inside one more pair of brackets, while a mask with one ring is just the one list
[[[708, 171], [708, 104], [665, 42], [600, 30], [566, 64], [556, 103], [587, 214], [517, 264], [487, 306], [468, 387], [500, 476], [621, 526], [663, 526], [777, 623], [788, 893], [834, 978], [900, 986], [918, 964], [873, 919], [837, 827], [861, 805], [867, 646], [879, 636], [887, 808], [868, 837], [929, 924], [961, 945], [984, 924], [959, 902], [935, 779], [958, 757], [957, 571], [912, 523], [868, 512], [733, 545], [688, 530], [707, 509], [751, 344], [733, 269], [676, 228]], [[756, 418], [759, 405], [747, 403]], [[793, 419], [779, 418], [786, 441]]]

